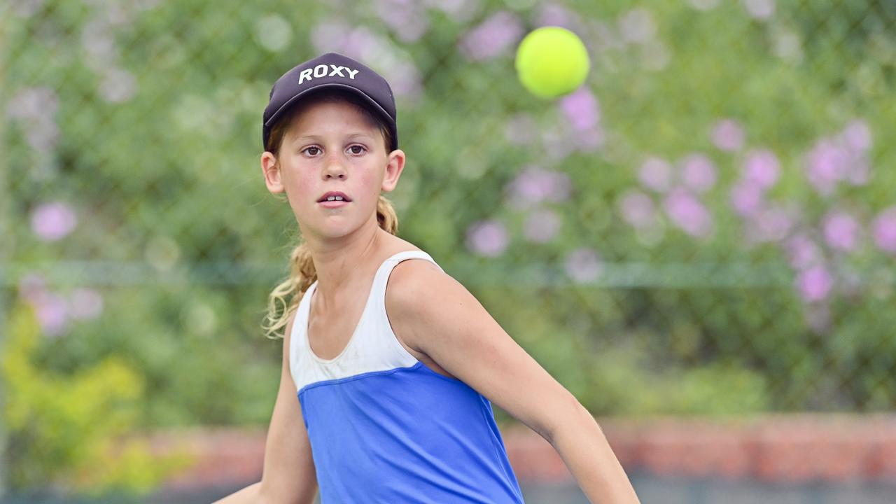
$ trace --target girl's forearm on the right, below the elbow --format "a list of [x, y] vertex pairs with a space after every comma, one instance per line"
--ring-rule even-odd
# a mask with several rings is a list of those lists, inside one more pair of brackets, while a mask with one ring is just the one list
[[641, 504], [598, 422], [582, 407], [548, 439], [594, 504]]

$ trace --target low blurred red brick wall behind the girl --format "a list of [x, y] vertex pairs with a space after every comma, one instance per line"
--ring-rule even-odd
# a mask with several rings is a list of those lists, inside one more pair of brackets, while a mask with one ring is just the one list
[[[762, 482], [896, 482], [896, 415], [597, 420], [626, 470]], [[512, 424], [501, 432], [521, 481], [572, 481], [563, 459], [534, 431]], [[168, 488], [261, 478], [265, 430], [172, 430], [148, 437], [157, 453], [182, 448], [196, 457], [192, 467], [168, 482]]]

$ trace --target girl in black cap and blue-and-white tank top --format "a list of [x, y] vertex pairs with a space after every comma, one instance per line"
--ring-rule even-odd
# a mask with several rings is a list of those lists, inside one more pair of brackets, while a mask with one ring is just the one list
[[[638, 502], [594, 418], [426, 252], [381, 191], [404, 169], [389, 84], [327, 53], [274, 83], [261, 164], [304, 243], [262, 481], [221, 503], [522, 502], [491, 402], [547, 439], [592, 502]], [[418, 259], [418, 260], [413, 260]], [[298, 399], [298, 400], [297, 400]]]

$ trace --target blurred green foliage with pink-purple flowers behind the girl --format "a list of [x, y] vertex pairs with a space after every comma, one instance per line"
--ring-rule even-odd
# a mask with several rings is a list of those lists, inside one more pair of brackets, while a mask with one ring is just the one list
[[[10, 488], [149, 488], [180, 462], [109, 439], [270, 421], [281, 344], [260, 325], [298, 237], [263, 184], [261, 116], [280, 74], [326, 51], [392, 84], [401, 237], [592, 413], [892, 409], [890, 1], [0, 14]], [[558, 100], [513, 68], [544, 25], [591, 56]]]

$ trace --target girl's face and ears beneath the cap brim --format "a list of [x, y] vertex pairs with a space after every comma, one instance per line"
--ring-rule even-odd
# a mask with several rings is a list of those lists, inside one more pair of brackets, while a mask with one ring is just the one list
[[[345, 102], [308, 105], [293, 117], [276, 159], [271, 152], [262, 156], [268, 189], [286, 192], [306, 238], [338, 238], [371, 221], [376, 226], [380, 191], [394, 189], [403, 166], [404, 153], [385, 152], [383, 134]], [[322, 203], [331, 191], [347, 201]]]

